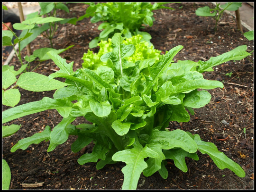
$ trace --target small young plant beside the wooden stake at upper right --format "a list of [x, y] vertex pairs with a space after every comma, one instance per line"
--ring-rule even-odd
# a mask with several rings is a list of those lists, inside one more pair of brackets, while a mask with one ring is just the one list
[[205, 6], [203, 8], [198, 8], [195, 12], [197, 16], [203, 16], [203, 17], [213, 17], [216, 21], [214, 31], [217, 31], [217, 23], [222, 17], [224, 10], [228, 11], [236, 11], [239, 7], [242, 6], [242, 3], [238, 2], [229, 2], [224, 5], [220, 5], [220, 3], [216, 3], [215, 8], [209, 8], [208, 6]]

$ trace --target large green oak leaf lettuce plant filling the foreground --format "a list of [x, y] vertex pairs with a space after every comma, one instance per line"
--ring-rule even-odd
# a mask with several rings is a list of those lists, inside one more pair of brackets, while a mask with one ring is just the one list
[[[47, 53], [60, 70], [44, 78], [49, 83], [53, 78], [63, 77], [68, 86], [62, 84], [53, 99], [44, 97], [3, 111], [2, 121], [6, 123], [46, 109], [56, 109], [63, 119], [53, 130], [47, 125], [42, 133], [18, 141], [11, 152], [25, 150], [32, 143], [50, 141], [49, 152], [66, 142], [69, 135], [77, 135], [71, 145], [75, 153], [91, 141], [95, 143], [90, 154], [78, 159], [80, 165], [97, 162], [96, 168], [101, 169], [119, 161], [126, 163], [122, 168], [122, 189], [136, 189], [141, 173], [150, 176], [158, 171], [166, 179], [165, 159], [173, 159], [175, 166], [186, 172], [185, 157], [199, 160], [197, 150], [208, 154], [220, 169], [228, 168], [244, 177], [244, 170], [213, 143], [202, 141], [198, 134], [180, 129], [169, 131], [166, 127], [170, 121], [188, 122], [187, 110], [193, 114], [193, 109], [208, 104], [211, 95], [206, 90], [223, 88], [223, 84], [203, 79], [202, 73], [223, 62], [245, 58], [249, 55], [246, 48], [231, 50], [208, 61], [171, 63], [183, 49], [179, 45], [158, 61], [129, 62], [125, 58], [133, 55], [136, 48], [122, 43], [121, 34], [114, 34], [112, 51], [101, 56], [107, 65], [96, 70], [84, 68], [74, 72], [73, 62], [66, 63], [54, 51]], [[46, 91], [47, 81], [43, 87], [39, 82], [28, 81], [32, 74], [25, 74], [27, 78], [21, 76], [18, 81], [27, 81], [23, 83], [27, 90]], [[82, 116], [92, 124], [72, 124], [76, 117]]]

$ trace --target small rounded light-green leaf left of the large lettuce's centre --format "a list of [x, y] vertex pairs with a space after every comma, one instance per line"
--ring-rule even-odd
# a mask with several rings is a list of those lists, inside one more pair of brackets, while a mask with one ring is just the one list
[[101, 103], [90, 100], [90, 106], [93, 113], [98, 117], [108, 116], [111, 112], [110, 102], [107, 100]]

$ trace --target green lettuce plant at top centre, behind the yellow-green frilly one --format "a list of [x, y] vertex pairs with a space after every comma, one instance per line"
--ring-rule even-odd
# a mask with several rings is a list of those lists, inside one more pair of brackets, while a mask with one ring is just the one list
[[[103, 31], [99, 37], [94, 38], [89, 43], [89, 48], [97, 47], [97, 43], [101, 40], [107, 41], [112, 38], [114, 33], [121, 32], [126, 29], [125, 37], [141, 34], [143, 39], [150, 43], [151, 35], [146, 32], [140, 32], [142, 25], [153, 25], [155, 21], [153, 10], [160, 8], [169, 8], [162, 6], [164, 3], [150, 2], [107, 2], [107, 3], [87, 3], [90, 7], [87, 8], [86, 14], [79, 17], [82, 20], [85, 17], [91, 17], [91, 23], [104, 21], [99, 25], [98, 29]], [[173, 9], [173, 8], [169, 8]]]

